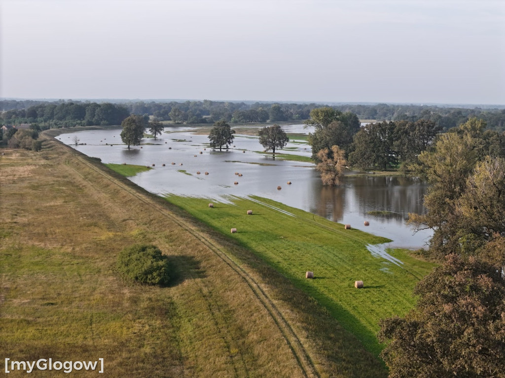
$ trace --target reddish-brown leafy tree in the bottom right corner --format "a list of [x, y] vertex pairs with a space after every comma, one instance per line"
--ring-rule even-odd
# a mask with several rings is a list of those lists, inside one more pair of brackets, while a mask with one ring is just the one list
[[449, 255], [415, 294], [405, 319], [380, 322], [390, 378], [505, 377], [505, 280], [496, 266]]

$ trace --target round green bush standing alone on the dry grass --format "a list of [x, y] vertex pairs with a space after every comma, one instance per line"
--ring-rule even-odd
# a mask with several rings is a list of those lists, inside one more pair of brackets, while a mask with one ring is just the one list
[[126, 279], [148, 285], [167, 285], [169, 262], [156, 245], [135, 244], [118, 256], [117, 269]]

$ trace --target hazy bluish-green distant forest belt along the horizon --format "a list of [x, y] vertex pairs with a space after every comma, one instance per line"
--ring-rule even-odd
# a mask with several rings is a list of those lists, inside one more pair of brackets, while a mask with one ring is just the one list
[[[171, 102], [83, 102], [0, 100], [3, 124], [37, 123], [41, 129], [73, 127], [76, 125], [114, 125], [130, 114], [149, 115], [174, 123], [282, 122], [302, 121], [312, 109], [328, 106], [317, 103], [171, 101]], [[445, 107], [405, 104], [338, 104], [331, 106], [341, 112], [352, 112], [360, 119], [430, 120], [442, 131], [458, 127], [476, 117], [486, 122], [488, 129], [505, 131], [505, 109]]]

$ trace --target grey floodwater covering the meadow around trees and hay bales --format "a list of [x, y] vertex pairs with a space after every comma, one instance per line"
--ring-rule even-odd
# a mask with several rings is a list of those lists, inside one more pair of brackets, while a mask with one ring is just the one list
[[[283, 129], [287, 133], [310, 131], [303, 125], [285, 125]], [[274, 160], [259, 154], [264, 149], [258, 138], [241, 135], [240, 128], [234, 128], [234, 147], [221, 152], [210, 149], [207, 135], [195, 135], [194, 130], [187, 126], [168, 127], [165, 131], [169, 133], [157, 141], [143, 139], [141, 147], [130, 150], [122, 145], [120, 129], [62, 134], [58, 138], [72, 145], [77, 135], [79, 143], [86, 145], [73, 147], [88, 156], [99, 157], [103, 163], [155, 164], [154, 169], [130, 177], [152, 193], [221, 201], [229, 201], [229, 196], [265, 197], [387, 237], [393, 240], [387, 245], [391, 247], [421, 248], [431, 237], [430, 231], [415, 233], [406, 224], [409, 212], [425, 211], [422, 206], [428, 187], [425, 181], [415, 177], [345, 176], [341, 186], [328, 187], [322, 185], [312, 163]], [[305, 156], [312, 153], [310, 146], [296, 139], [280, 152]], [[369, 215], [370, 211], [388, 214]], [[364, 221], [370, 225], [364, 226]]]

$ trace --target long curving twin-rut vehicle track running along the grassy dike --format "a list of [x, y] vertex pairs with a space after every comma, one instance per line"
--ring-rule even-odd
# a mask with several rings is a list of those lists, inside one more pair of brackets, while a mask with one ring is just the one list
[[[56, 143], [60, 143], [57, 140], [54, 140]], [[303, 376], [309, 377], [320, 377], [318, 371], [314, 366], [314, 362], [312, 358], [301, 342], [300, 338], [293, 330], [289, 322], [283, 316], [281, 310], [277, 307], [277, 305], [273, 302], [273, 300], [268, 296], [265, 290], [261, 287], [261, 285], [256, 281], [254, 277], [251, 276], [238, 262], [234, 261], [226, 252], [219, 247], [218, 244], [210, 240], [205, 236], [204, 233], [198, 231], [193, 225], [189, 222], [186, 222], [175, 215], [173, 215], [170, 211], [165, 209], [164, 207], [157, 205], [154, 201], [150, 200], [146, 195], [140, 193], [137, 190], [134, 190], [131, 186], [122, 183], [120, 180], [114, 178], [109, 175], [102, 169], [98, 168], [96, 165], [90, 163], [83, 156], [80, 156], [74, 150], [70, 150], [71, 154], [82, 164], [91, 168], [94, 172], [106, 177], [109, 181], [113, 182], [115, 185], [120, 187], [122, 190], [129, 193], [131, 196], [137, 198], [139, 201], [143, 202], [147, 206], [155, 209], [157, 212], [162, 214], [164, 217], [169, 218], [175, 224], [189, 232], [196, 239], [198, 239], [201, 243], [206, 245], [210, 250], [214, 252], [214, 254], [219, 257], [226, 265], [228, 265], [236, 274], [238, 274], [242, 280], [247, 284], [252, 293], [256, 296], [256, 298], [260, 301], [263, 307], [267, 310], [270, 317], [274, 321], [275, 325], [279, 329], [279, 332], [282, 334], [286, 344], [291, 350], [293, 357], [297, 361], [298, 367], [300, 368]], [[66, 161], [68, 163], [68, 160]], [[70, 166], [70, 164], [68, 164]], [[79, 172], [77, 169], [72, 168], [78, 175], [83, 177], [83, 174]], [[84, 177], [83, 177], [84, 178]], [[229, 343], [227, 343], [229, 347]], [[231, 351], [230, 351], [231, 355]], [[234, 364], [234, 370], [237, 370], [237, 366]], [[245, 374], [247, 372], [244, 371]], [[240, 376], [240, 375], [237, 375]], [[243, 376], [243, 375], [242, 375]]]

